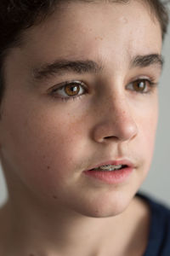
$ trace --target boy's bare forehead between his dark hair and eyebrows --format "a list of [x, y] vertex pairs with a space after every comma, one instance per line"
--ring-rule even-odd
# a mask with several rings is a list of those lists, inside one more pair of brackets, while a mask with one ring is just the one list
[[37, 66], [56, 57], [98, 56], [122, 66], [133, 55], [161, 52], [160, 24], [143, 1], [60, 4], [47, 20], [28, 29], [24, 38], [22, 50]]

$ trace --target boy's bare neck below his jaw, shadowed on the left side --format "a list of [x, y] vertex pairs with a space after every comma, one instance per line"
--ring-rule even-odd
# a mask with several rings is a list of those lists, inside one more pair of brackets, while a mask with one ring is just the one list
[[128, 242], [134, 226], [134, 201], [110, 218], [90, 218], [61, 206], [52, 211], [28, 198], [21, 201], [9, 198], [4, 207], [9, 231], [4, 244], [14, 256], [16, 248], [20, 248], [16, 255], [110, 255], [105, 248], [111, 248], [113, 255], [117, 245]]

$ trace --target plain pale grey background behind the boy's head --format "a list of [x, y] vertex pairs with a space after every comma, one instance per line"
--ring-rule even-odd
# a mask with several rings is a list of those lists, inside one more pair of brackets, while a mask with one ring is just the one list
[[[156, 149], [152, 166], [141, 191], [161, 200], [170, 207], [170, 27], [164, 42], [162, 55], [165, 67], [159, 84], [160, 117], [156, 135]], [[7, 198], [3, 173], [0, 169], [0, 205]]]

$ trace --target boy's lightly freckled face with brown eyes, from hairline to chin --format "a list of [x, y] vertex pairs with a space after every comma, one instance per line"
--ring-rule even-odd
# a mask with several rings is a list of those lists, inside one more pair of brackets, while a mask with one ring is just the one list
[[[96, 217], [127, 207], [149, 171], [157, 123], [149, 81], [158, 82], [161, 63], [140, 57], [160, 54], [159, 23], [139, 1], [62, 5], [25, 32], [6, 60], [0, 122], [4, 172], [20, 196], [32, 191], [48, 207]], [[40, 73], [61, 59], [103, 69]], [[82, 85], [57, 90], [71, 80]], [[108, 160], [130, 160], [133, 172], [116, 184], [84, 174]]]

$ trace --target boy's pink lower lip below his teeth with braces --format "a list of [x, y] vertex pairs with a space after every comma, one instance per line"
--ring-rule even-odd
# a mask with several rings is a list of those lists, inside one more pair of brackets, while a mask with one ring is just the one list
[[133, 172], [132, 167], [123, 168], [117, 171], [84, 171], [86, 175], [98, 179], [104, 183], [118, 184], [126, 182], [127, 178]]

